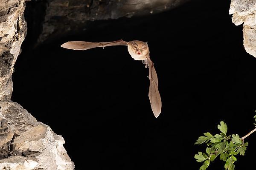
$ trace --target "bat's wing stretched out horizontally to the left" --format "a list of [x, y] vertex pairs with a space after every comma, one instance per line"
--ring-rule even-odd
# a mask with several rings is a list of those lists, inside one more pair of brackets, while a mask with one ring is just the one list
[[71, 50], [87, 50], [90, 48], [96, 47], [107, 47], [112, 45], [126, 45], [128, 46], [128, 42], [123, 40], [117, 40], [112, 42], [86, 42], [86, 41], [70, 41], [61, 45], [63, 48], [71, 49]]

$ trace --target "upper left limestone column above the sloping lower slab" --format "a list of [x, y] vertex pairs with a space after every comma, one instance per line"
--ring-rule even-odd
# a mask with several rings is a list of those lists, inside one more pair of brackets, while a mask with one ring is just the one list
[[0, 100], [11, 98], [13, 66], [27, 30], [24, 9], [24, 0], [0, 1]]

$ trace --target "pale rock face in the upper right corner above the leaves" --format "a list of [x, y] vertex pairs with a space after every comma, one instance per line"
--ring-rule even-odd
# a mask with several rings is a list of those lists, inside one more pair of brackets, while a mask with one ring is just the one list
[[233, 23], [244, 23], [244, 48], [256, 57], [256, 0], [231, 0], [230, 14]]

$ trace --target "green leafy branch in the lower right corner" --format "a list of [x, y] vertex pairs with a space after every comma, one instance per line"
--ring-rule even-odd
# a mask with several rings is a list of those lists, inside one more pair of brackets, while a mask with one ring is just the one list
[[[254, 116], [256, 122], [256, 115]], [[256, 125], [254, 123], [254, 125]], [[218, 156], [219, 159], [225, 162], [226, 170], [234, 170], [234, 162], [237, 160], [236, 155], [244, 156], [248, 142], [244, 143], [244, 139], [250, 136], [254, 130], [250, 131], [247, 135], [239, 137], [238, 134], [227, 136], [227, 124], [221, 121], [218, 125], [218, 129], [221, 131], [220, 134], [215, 134], [214, 136], [207, 132], [204, 136], [200, 136], [195, 144], [207, 144], [206, 153], [198, 152], [195, 155], [195, 159], [198, 162], [204, 162], [199, 170], [206, 170], [210, 162], [214, 161]]]

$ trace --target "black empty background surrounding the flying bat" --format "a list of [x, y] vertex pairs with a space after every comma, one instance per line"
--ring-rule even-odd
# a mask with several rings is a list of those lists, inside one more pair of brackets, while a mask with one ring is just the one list
[[[243, 47], [242, 26], [232, 23], [230, 1], [194, 0], [144, 17], [90, 22], [52, 43], [27, 40], [13, 74], [12, 101], [64, 137], [76, 170], [193, 169], [194, 145], [204, 132], [244, 136], [256, 110], [256, 59]], [[162, 97], [156, 119], [148, 99], [148, 69], [126, 47], [73, 51], [67, 41], [148, 41]], [[246, 139], [236, 170], [255, 166], [255, 137]], [[224, 169], [215, 160], [209, 168]]]

